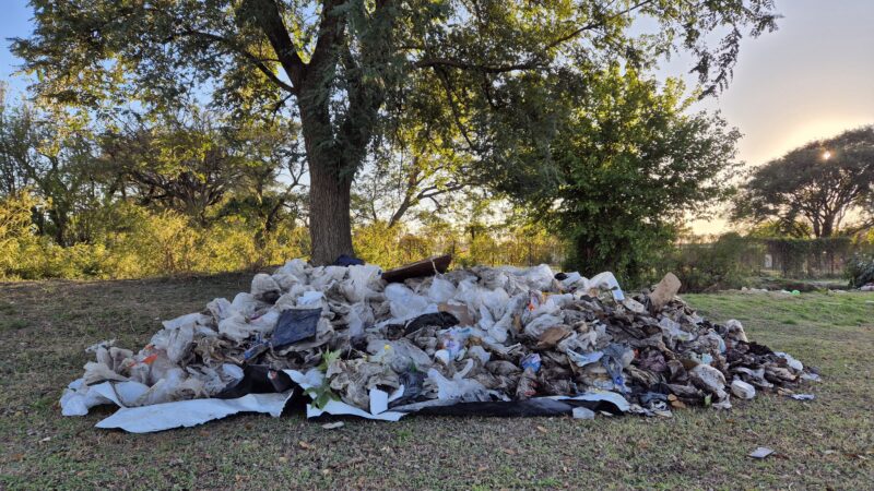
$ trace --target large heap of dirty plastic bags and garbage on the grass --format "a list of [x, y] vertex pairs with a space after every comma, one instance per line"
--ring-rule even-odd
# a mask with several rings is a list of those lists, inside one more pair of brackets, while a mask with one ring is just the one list
[[[731, 407], [818, 375], [702, 319], [669, 274], [626, 296], [611, 273], [472, 267], [448, 258], [381, 272], [293, 260], [248, 292], [163, 322], [134, 354], [104, 342], [61, 397], [67, 416], [155, 431], [238, 411], [397, 420], [410, 414], [671, 416]], [[791, 390], [789, 390], [791, 393]], [[182, 406], [180, 406], [182, 405]]]

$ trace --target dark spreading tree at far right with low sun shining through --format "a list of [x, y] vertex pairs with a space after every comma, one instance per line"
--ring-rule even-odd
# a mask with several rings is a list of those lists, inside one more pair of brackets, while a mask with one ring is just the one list
[[753, 169], [732, 213], [736, 221], [803, 220], [814, 237], [842, 231], [874, 197], [874, 127], [811, 142]]

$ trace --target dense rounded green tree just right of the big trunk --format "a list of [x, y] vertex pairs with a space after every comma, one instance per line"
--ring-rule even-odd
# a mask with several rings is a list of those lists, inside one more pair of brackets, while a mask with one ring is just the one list
[[660, 89], [614, 67], [580, 95], [548, 158], [505, 176], [505, 191], [570, 243], [569, 268], [638, 282], [686, 214], [730, 192], [740, 134], [718, 117], [686, 115], [683, 97], [674, 81]]

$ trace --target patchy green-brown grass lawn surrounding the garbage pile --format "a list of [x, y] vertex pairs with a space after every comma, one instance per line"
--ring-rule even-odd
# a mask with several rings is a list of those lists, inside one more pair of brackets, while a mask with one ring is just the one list
[[[86, 346], [139, 349], [158, 320], [248, 290], [250, 275], [0, 284], [0, 488], [747, 489], [874, 487], [874, 295], [695, 295], [719, 321], [818, 367], [813, 402], [765, 395], [728, 412], [345, 420], [243, 415], [154, 434], [60, 415]], [[777, 453], [764, 460], [757, 446]]]

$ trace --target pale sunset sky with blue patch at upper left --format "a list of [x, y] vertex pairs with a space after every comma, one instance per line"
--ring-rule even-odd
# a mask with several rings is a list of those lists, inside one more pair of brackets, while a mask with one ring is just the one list
[[[0, 0], [0, 80], [21, 63], [7, 38], [31, 33], [26, 0]], [[740, 159], [761, 165], [812, 140], [874, 123], [874, 0], [777, 0], [779, 29], [747, 38], [734, 79], [719, 98], [694, 109], [719, 110], [744, 134]], [[683, 75], [687, 57], [662, 63], [660, 76]], [[727, 229], [723, 219], [693, 223], [698, 233]]]

